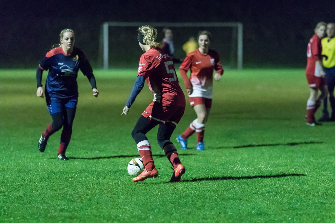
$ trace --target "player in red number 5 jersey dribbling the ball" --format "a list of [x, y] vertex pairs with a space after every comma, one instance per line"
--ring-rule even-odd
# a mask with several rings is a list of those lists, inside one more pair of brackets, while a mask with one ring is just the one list
[[138, 119], [131, 133], [144, 164], [143, 172], [133, 179], [134, 182], [158, 176], [152, 159], [151, 146], [145, 136], [156, 125], [159, 125], [158, 144], [174, 169], [170, 182], [180, 181], [185, 173], [177, 149], [170, 141], [176, 125], [184, 114], [185, 96], [179, 86], [172, 58], [162, 52], [161, 44], [155, 41], [156, 37], [157, 30], [155, 28], [139, 27], [137, 39], [144, 53], [140, 58], [136, 82], [122, 112], [122, 114], [128, 114], [130, 106], [142, 90], [146, 80], [154, 98]]

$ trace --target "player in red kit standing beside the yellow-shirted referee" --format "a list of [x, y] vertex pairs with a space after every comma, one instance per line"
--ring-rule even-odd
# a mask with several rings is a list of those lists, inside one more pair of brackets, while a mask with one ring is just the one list
[[[327, 96], [321, 55], [321, 38], [325, 35], [326, 25], [325, 22], [319, 22], [316, 25], [315, 34], [307, 45], [306, 78], [310, 86], [310, 97], [307, 101], [306, 125], [309, 126], [321, 125], [321, 123], [315, 121], [314, 114], [320, 107], [321, 101]], [[318, 90], [321, 91], [320, 95]]]

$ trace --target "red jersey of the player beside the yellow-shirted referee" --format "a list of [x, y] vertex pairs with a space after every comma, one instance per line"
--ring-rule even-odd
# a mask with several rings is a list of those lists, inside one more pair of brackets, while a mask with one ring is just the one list
[[322, 61], [321, 51], [321, 39], [317, 34], [314, 34], [307, 45], [306, 75], [321, 77], [319, 71], [315, 70], [315, 62]]

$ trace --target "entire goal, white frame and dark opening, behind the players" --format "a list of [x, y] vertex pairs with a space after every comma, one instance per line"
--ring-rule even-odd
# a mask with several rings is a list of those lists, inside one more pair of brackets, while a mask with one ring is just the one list
[[137, 29], [150, 25], [157, 29], [157, 41], [163, 37], [163, 28], [173, 31], [174, 56], [183, 59], [186, 53], [182, 46], [191, 36], [197, 41], [201, 30], [212, 34], [209, 48], [216, 50], [225, 69], [242, 69], [243, 66], [243, 25], [239, 22], [197, 22], [197, 23], [149, 23], [149, 22], [105, 22], [100, 28], [100, 68], [122, 68], [136, 66], [142, 51], [138, 46]]

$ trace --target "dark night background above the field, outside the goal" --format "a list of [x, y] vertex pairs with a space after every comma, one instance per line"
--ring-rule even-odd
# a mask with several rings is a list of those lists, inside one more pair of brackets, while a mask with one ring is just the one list
[[96, 67], [105, 21], [242, 22], [245, 67], [304, 67], [316, 23], [335, 21], [335, 1], [0, 0], [0, 69], [37, 67], [66, 27]]

